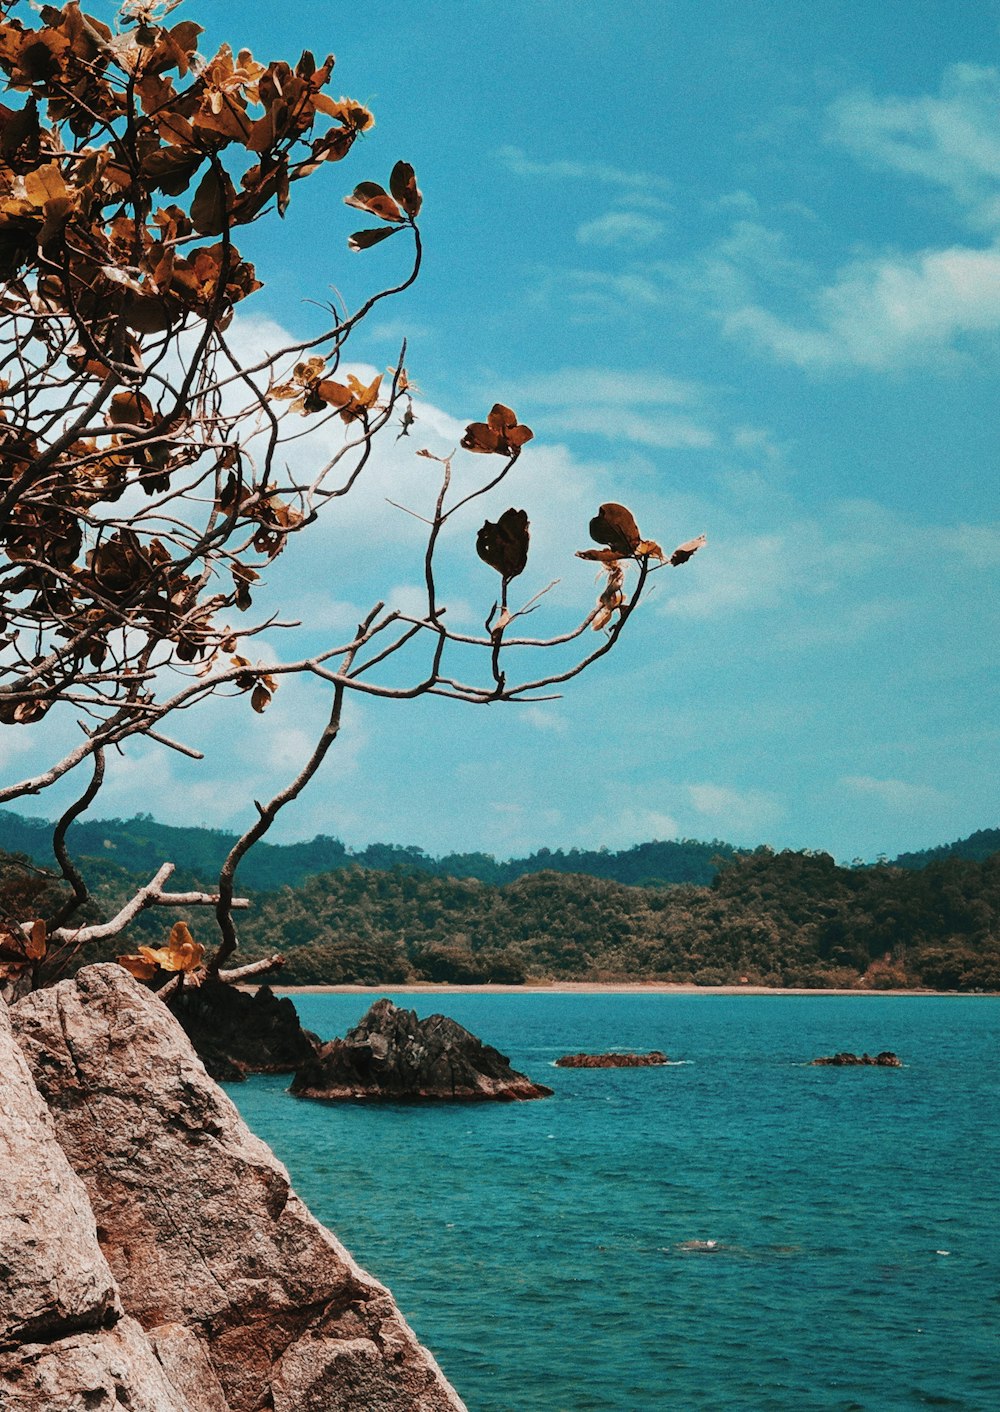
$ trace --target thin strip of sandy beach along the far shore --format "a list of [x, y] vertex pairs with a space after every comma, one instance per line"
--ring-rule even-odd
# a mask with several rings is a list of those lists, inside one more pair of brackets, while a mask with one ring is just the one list
[[[256, 990], [257, 987], [247, 987]], [[840, 990], [804, 986], [692, 986], [669, 981], [540, 981], [527, 986], [455, 986], [417, 981], [386, 986], [271, 986], [275, 995], [924, 995], [994, 1000], [997, 991], [960, 990]]]

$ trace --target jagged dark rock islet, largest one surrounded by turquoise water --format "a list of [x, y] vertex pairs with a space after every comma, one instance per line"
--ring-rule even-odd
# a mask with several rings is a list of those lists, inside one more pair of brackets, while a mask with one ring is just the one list
[[323, 1045], [291, 1086], [304, 1099], [511, 1101], [552, 1093], [446, 1015], [418, 1019], [377, 1000], [343, 1039]]

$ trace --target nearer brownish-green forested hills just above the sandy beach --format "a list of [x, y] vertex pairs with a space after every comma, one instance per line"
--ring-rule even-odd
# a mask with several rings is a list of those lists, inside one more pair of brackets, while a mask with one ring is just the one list
[[[3, 880], [7, 880], [6, 882]], [[134, 878], [105, 864], [86, 915], [107, 915]], [[32, 892], [34, 901], [16, 890]], [[42, 915], [51, 884], [0, 858], [0, 907]], [[701, 986], [925, 986], [1000, 990], [1000, 853], [921, 870], [838, 867], [825, 853], [753, 854], [713, 881], [629, 887], [552, 870], [496, 885], [356, 864], [251, 894], [244, 959], [280, 950], [291, 984], [412, 980], [661, 980]], [[174, 914], [143, 914], [123, 945], [162, 942]], [[212, 942], [209, 915], [186, 921]], [[103, 959], [96, 952], [78, 962]]]

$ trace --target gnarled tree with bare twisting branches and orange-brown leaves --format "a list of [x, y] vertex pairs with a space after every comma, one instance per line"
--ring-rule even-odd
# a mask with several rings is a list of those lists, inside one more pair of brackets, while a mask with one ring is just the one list
[[[452, 490], [453, 456], [417, 450], [438, 469], [436, 498], [415, 513], [424, 610], [377, 602], [347, 641], [267, 668], [251, 661], [253, 638], [278, 626], [251, 616], [268, 565], [377, 473], [383, 433], [414, 424], [405, 345], [387, 378], [363, 381], [345, 357], [371, 309], [418, 277], [422, 196], [405, 161], [387, 186], [359, 182], [346, 202], [367, 223], [349, 247], [408, 241], [405, 275], [353, 311], [331, 305], [319, 335], [242, 360], [229, 330], [261, 281], [236, 244], [240, 227], [284, 217], [297, 184], [347, 158], [373, 116], [331, 96], [332, 56], [260, 64], [223, 45], [202, 58], [199, 25], [169, 18], [177, 3], [130, 0], [110, 28], [76, 3], [35, 16], [0, 0], [10, 104], [0, 104], [0, 723], [38, 731], [72, 713], [82, 733], [0, 788], [0, 802], [86, 775], [54, 830], [59, 905], [8, 916], [0, 935], [0, 960], [20, 984], [58, 974], [69, 952], [120, 933], [151, 905], [213, 907], [219, 943], [206, 960], [179, 923], [167, 947], [133, 957], [133, 970], [219, 974], [237, 946], [237, 866], [315, 775], [349, 692], [542, 699], [614, 645], [651, 572], [702, 542], [665, 556], [626, 507], [602, 505], [590, 521], [599, 548], [582, 552], [606, 576], [596, 607], [569, 630], [528, 637], [523, 618], [545, 589], [527, 603], [510, 597], [530, 544], [528, 515], [511, 507], [476, 538], [500, 579], [484, 631], [449, 628], [435, 579], [441, 532], [508, 476], [531, 439], [497, 402], [462, 438], [465, 453], [490, 457], [475, 490]], [[336, 453], [308, 474], [291, 470], [284, 448], [329, 424], [343, 432]], [[588, 647], [592, 628], [602, 637]], [[572, 661], [521, 665], [568, 645]], [[218, 894], [171, 894], [165, 863], [119, 915], [81, 925], [89, 891], [66, 830], [97, 798], [109, 750], [140, 736], [196, 755], [168, 734], [171, 722], [219, 695], [264, 712], [292, 674], [329, 693], [326, 727], [295, 778], [256, 803]]]

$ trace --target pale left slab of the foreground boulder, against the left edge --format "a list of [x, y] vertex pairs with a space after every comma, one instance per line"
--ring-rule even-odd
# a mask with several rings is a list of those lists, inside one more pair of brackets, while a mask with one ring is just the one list
[[123, 1317], [88, 1193], [0, 1001], [0, 1408], [194, 1412]]

